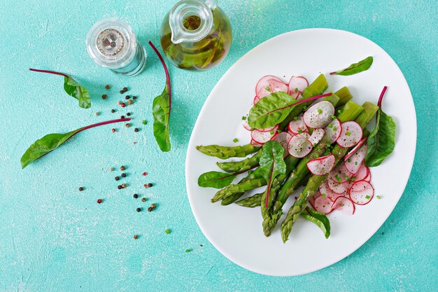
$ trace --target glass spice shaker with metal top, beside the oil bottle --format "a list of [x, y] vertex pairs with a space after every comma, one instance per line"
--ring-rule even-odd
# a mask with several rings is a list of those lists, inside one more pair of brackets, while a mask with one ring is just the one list
[[146, 50], [132, 28], [118, 18], [100, 20], [93, 25], [85, 44], [92, 60], [115, 74], [135, 76], [146, 66]]

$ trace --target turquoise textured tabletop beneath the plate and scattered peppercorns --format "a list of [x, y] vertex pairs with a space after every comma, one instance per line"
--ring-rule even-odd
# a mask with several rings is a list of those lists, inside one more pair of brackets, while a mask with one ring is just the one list
[[[170, 68], [172, 151], [160, 153], [152, 123], [141, 125], [143, 118], [151, 122], [151, 101], [164, 87], [147, 41], [159, 45], [160, 23], [175, 3], [2, 1], [0, 291], [437, 291], [436, 1], [220, 1], [234, 29], [229, 56], [202, 73]], [[127, 20], [145, 45], [148, 67], [140, 76], [115, 76], [88, 57], [85, 35], [107, 17]], [[185, 191], [185, 153], [202, 104], [222, 74], [259, 43], [308, 27], [355, 32], [393, 57], [414, 97], [416, 158], [393, 214], [358, 251], [304, 276], [266, 277], [227, 260], [202, 235]], [[72, 74], [89, 88], [92, 109], [78, 108], [64, 94], [61, 77], [29, 67]], [[108, 92], [106, 83], [113, 86]], [[123, 86], [139, 99], [122, 111], [115, 103]], [[100, 98], [103, 93], [108, 99]], [[127, 111], [133, 127], [115, 125], [115, 134], [111, 125], [88, 130], [20, 169], [22, 153], [43, 135]], [[141, 131], [134, 133], [135, 126]], [[117, 190], [113, 179], [120, 171], [108, 172], [120, 165], [127, 166], [125, 190]], [[155, 186], [143, 188], [148, 182]], [[133, 193], [148, 201], [134, 200]], [[104, 202], [97, 204], [98, 198]], [[135, 211], [152, 202], [152, 213]]]

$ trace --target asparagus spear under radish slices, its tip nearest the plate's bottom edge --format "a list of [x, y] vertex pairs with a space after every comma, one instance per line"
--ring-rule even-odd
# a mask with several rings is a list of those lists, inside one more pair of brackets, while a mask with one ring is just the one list
[[[355, 121], [363, 129], [368, 125], [369, 121], [373, 118], [379, 108], [371, 102], [365, 102], [365, 104], [363, 104], [362, 106], [364, 108], [364, 111], [360, 114], [358, 118], [356, 118]], [[369, 132], [367, 132], [366, 134], [368, 133]], [[335, 145], [333, 147], [332, 154], [336, 158], [336, 164], [346, 155], [346, 153], [348, 153], [348, 150], [348, 148], [341, 148], [339, 147], [339, 145]], [[320, 184], [323, 183], [325, 179], [327, 179], [327, 176], [328, 174], [325, 174], [323, 176], [311, 176], [306, 187], [304, 188], [302, 193], [299, 194], [298, 200], [295, 201], [292, 207], [290, 207], [285, 220], [283, 221], [283, 223], [281, 223], [281, 238], [283, 239], [283, 242], [286, 242], [286, 240], [288, 240], [290, 231], [292, 230], [292, 225], [295, 223], [295, 221], [297, 221], [299, 214], [302, 213], [311, 197], [313, 197], [313, 195], [318, 190]]]

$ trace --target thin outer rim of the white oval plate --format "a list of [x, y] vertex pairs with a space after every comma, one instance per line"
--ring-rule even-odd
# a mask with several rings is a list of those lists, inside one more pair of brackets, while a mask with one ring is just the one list
[[293, 34], [296, 32], [315, 32], [315, 31], [320, 31], [320, 32], [334, 32], [337, 34], [350, 34], [356, 38], [360, 38], [360, 39], [364, 39], [365, 41], [369, 41], [371, 43], [374, 44], [374, 46], [377, 46], [380, 50], [382, 50], [382, 52], [384, 54], [387, 55], [387, 57], [389, 58], [390, 62], [393, 62], [393, 64], [395, 65], [395, 68], [400, 72], [400, 74], [402, 75], [403, 79], [404, 79], [404, 83], [406, 83], [407, 85], [407, 90], [409, 93], [409, 97], [411, 97], [409, 100], [411, 102], [411, 106], [413, 109], [413, 118], [415, 119], [415, 125], [414, 125], [414, 132], [415, 132], [415, 137], [416, 139], [414, 140], [414, 147], [412, 150], [412, 155], [411, 155], [411, 160], [409, 161], [409, 172], [407, 174], [407, 179], [406, 182], [404, 183], [403, 186], [403, 191], [402, 194], [400, 195], [400, 197], [397, 199], [397, 201], [395, 202], [395, 204], [393, 205], [393, 207], [391, 207], [390, 209], [388, 209], [388, 216], [386, 216], [386, 218], [382, 221], [382, 223], [379, 225], [379, 228], [381, 228], [381, 226], [388, 220], [389, 216], [393, 213], [395, 206], [397, 206], [398, 202], [400, 202], [400, 198], [402, 197], [404, 190], [406, 190], [406, 186], [407, 183], [409, 181], [409, 178], [411, 176], [411, 172], [412, 172], [412, 168], [414, 166], [414, 160], [415, 160], [415, 155], [416, 155], [416, 146], [417, 146], [417, 134], [418, 134], [418, 125], [417, 125], [417, 118], [416, 118], [416, 108], [415, 108], [415, 104], [414, 104], [414, 98], [412, 97], [411, 94], [411, 89], [409, 88], [409, 83], [407, 82], [407, 79], [405, 78], [402, 70], [400, 69], [400, 67], [397, 65], [397, 63], [393, 60], [393, 58], [386, 52], [386, 50], [384, 50], [383, 48], [381, 48], [381, 46], [379, 46], [377, 43], [375, 43], [374, 41], [367, 39], [365, 36], [360, 36], [359, 34], [355, 34], [353, 32], [348, 32], [342, 29], [330, 29], [330, 28], [308, 28], [308, 29], [297, 29], [297, 30], [292, 30], [290, 32], [284, 32], [283, 34], [278, 34], [276, 36], [271, 37], [270, 39], [267, 39], [265, 41], [263, 41], [262, 43], [259, 43], [257, 46], [251, 48], [250, 50], [248, 50], [248, 52], [246, 52], [244, 55], [242, 55], [241, 57], [239, 57], [238, 60], [236, 60], [236, 62], [234, 62], [234, 64], [232, 64], [232, 66], [230, 66], [227, 71], [225, 71], [225, 73], [220, 77], [220, 79], [218, 80], [218, 82], [216, 83], [216, 85], [213, 87], [213, 89], [211, 90], [211, 92], [209, 93], [209, 96], [206, 97], [205, 102], [201, 108], [201, 110], [199, 111], [197, 120], [195, 122], [195, 125], [193, 126], [192, 132], [190, 134], [190, 141], [188, 144], [188, 148], [187, 148], [187, 152], [186, 152], [186, 156], [185, 156], [185, 187], [186, 187], [186, 191], [187, 191], [187, 196], [188, 196], [188, 200], [189, 200], [189, 204], [190, 204], [190, 209], [192, 210], [192, 214], [195, 217], [195, 220], [197, 222], [197, 225], [199, 226], [199, 228], [201, 229], [202, 233], [204, 234], [204, 236], [206, 237], [206, 239], [209, 240], [209, 242], [220, 252], [222, 253], [223, 256], [225, 256], [228, 260], [232, 261], [232, 263], [235, 263], [236, 265], [239, 265], [240, 267], [243, 267], [246, 270], [249, 270], [251, 272], [255, 272], [257, 274], [263, 274], [263, 275], [267, 275], [267, 276], [272, 276], [272, 277], [293, 277], [293, 276], [299, 276], [302, 274], [309, 274], [311, 272], [316, 272], [318, 270], [322, 270], [326, 267], [330, 267], [331, 265], [334, 265], [334, 263], [337, 263], [341, 260], [344, 260], [344, 258], [346, 258], [347, 256], [351, 255], [352, 253], [354, 253], [355, 251], [357, 251], [358, 249], [360, 249], [360, 247], [362, 247], [371, 237], [373, 237], [376, 232], [379, 230], [379, 228], [377, 228], [376, 230], [374, 230], [374, 232], [371, 233], [371, 235], [364, 237], [363, 240], [360, 240], [360, 244], [358, 244], [357, 247], [355, 247], [352, 251], [348, 251], [346, 253], [341, 254], [341, 256], [339, 256], [337, 260], [332, 260], [330, 261], [330, 263], [328, 264], [322, 264], [322, 265], [317, 265], [317, 267], [313, 268], [313, 269], [309, 269], [309, 270], [304, 270], [303, 272], [300, 273], [294, 273], [294, 274], [269, 274], [266, 272], [262, 272], [260, 270], [254, 269], [253, 267], [249, 267], [248, 265], [246, 265], [246, 263], [241, 263], [239, 260], [235, 260], [232, 256], [229, 256], [229, 253], [227, 253], [227, 251], [221, 249], [217, 243], [212, 240], [208, 234], [209, 232], [206, 232], [206, 230], [203, 227], [203, 224], [199, 221], [199, 218], [197, 216], [197, 212], [195, 211], [194, 208], [194, 202], [192, 201], [192, 199], [190, 198], [190, 183], [189, 183], [189, 179], [188, 179], [188, 173], [189, 173], [189, 158], [190, 158], [190, 153], [192, 153], [192, 151], [190, 151], [190, 148], [193, 148], [194, 146], [192, 145], [194, 142], [192, 140], [192, 136], [193, 136], [193, 132], [195, 132], [195, 128], [197, 127], [199, 118], [200, 118], [200, 113], [202, 113], [204, 111], [204, 107], [206, 107], [206, 104], [208, 104], [209, 99], [211, 99], [211, 96], [213, 95], [214, 92], [216, 92], [216, 90], [218, 90], [217, 88], [219, 87], [222, 79], [224, 78], [224, 76], [226, 76], [227, 74], [229, 74], [229, 71], [231, 71], [236, 64], [238, 64], [241, 60], [243, 60], [243, 58], [247, 57], [248, 54], [250, 54], [251, 52], [253, 52], [253, 50], [256, 50], [257, 48], [259, 48], [260, 46], [264, 45], [265, 43], [268, 43], [270, 41], [274, 41], [277, 38], [281, 38], [282, 36], [285, 36], [286, 34]]

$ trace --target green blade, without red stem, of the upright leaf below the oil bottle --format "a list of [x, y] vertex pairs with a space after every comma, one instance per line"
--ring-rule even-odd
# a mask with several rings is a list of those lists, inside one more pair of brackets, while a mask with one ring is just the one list
[[161, 95], [155, 97], [152, 109], [154, 117], [154, 136], [161, 151], [170, 151], [169, 137], [169, 116], [170, 116], [170, 99], [169, 90], [164, 87]]

